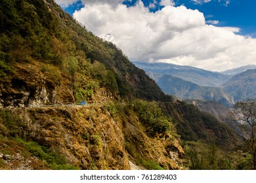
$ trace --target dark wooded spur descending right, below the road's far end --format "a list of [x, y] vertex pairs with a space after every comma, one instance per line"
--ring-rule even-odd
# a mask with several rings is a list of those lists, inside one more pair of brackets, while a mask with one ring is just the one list
[[184, 141], [207, 142], [216, 139], [217, 145], [230, 146], [237, 139], [228, 126], [217, 120], [215, 116], [200, 111], [194, 105], [177, 101], [165, 104], [165, 108], [168, 114], [175, 116], [173, 122]]

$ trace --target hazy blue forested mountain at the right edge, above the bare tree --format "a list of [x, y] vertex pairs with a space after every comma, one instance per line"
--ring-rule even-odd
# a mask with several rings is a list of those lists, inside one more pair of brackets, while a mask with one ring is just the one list
[[228, 95], [234, 97], [234, 101], [256, 99], [256, 69], [233, 76], [222, 87]]

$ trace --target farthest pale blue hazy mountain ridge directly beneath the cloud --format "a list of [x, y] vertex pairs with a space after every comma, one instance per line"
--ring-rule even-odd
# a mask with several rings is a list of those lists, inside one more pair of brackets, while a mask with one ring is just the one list
[[[171, 75], [200, 86], [221, 86], [221, 84], [224, 84], [230, 78], [230, 76], [221, 73], [171, 63], [133, 63], [140, 69], [144, 69], [146, 73]], [[156, 80], [156, 78], [153, 79]]]

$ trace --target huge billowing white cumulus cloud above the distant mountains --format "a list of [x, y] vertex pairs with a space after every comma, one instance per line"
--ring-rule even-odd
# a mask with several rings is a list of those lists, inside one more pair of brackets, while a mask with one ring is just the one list
[[236, 34], [238, 28], [207, 25], [198, 10], [169, 5], [150, 12], [142, 1], [133, 7], [92, 3], [75, 11], [74, 18], [98, 37], [114, 42], [132, 61], [212, 71], [256, 63], [255, 39]]

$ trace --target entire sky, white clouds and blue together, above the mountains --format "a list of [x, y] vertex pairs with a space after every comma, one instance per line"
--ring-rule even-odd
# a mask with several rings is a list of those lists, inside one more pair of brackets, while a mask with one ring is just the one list
[[224, 71], [256, 64], [255, 0], [55, 0], [131, 61]]

